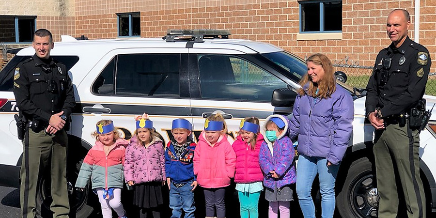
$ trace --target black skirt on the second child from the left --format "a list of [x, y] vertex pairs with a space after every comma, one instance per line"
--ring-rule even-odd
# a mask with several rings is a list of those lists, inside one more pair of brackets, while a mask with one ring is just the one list
[[163, 204], [162, 182], [148, 182], [135, 185], [133, 204], [142, 208], [152, 208]]

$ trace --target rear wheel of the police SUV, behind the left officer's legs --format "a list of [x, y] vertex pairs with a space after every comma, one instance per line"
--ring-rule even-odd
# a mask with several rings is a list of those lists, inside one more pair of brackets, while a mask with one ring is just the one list
[[[92, 190], [87, 186], [84, 191], [77, 191], [74, 188], [78, 177], [83, 158], [78, 161], [71, 161], [72, 165], [67, 166], [67, 187], [68, 201], [70, 203], [70, 218], [88, 218], [94, 208], [97, 208], [93, 202], [98, 202], [98, 199], [92, 194]], [[41, 178], [38, 183], [38, 198], [36, 199], [37, 213], [42, 217], [52, 217], [50, 204], [53, 201], [50, 191], [50, 175], [49, 173]], [[95, 198], [95, 199], [94, 199]]]

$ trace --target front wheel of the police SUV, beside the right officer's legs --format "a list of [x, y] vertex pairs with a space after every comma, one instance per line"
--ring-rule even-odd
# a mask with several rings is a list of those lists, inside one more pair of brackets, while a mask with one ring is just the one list
[[337, 208], [342, 218], [377, 217], [379, 199], [374, 183], [375, 175], [368, 158], [363, 157], [351, 163], [337, 196]]

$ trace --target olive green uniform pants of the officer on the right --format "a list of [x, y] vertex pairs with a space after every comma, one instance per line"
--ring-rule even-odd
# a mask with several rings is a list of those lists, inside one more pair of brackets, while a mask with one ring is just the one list
[[408, 124], [402, 127], [390, 124], [384, 130], [375, 131], [373, 151], [380, 196], [379, 218], [396, 218], [399, 205], [398, 180], [404, 192], [408, 218], [425, 218], [419, 148], [420, 132], [411, 130]]

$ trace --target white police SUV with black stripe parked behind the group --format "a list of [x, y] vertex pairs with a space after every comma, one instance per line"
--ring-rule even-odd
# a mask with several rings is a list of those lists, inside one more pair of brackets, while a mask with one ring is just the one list
[[[69, 69], [77, 101], [68, 132], [69, 183], [75, 184], [81, 161], [94, 144], [91, 133], [101, 119], [113, 120], [122, 136], [130, 139], [134, 115], [147, 112], [168, 142], [175, 118], [191, 121], [197, 138], [204, 118], [212, 113], [224, 115], [232, 137], [245, 117], [265, 120], [273, 113], [289, 115], [290, 99], [295, 98], [297, 83], [307, 72], [304, 60], [270, 44], [228, 39], [228, 35], [227, 31], [179, 30], [163, 38], [76, 40], [62, 36], [51, 55]], [[13, 72], [34, 50], [26, 47], [9, 52], [16, 56], [0, 72], [0, 185], [18, 187], [23, 148], [16, 136], [14, 115], [19, 108], [12, 92]], [[337, 180], [338, 210], [343, 218], [375, 217], [374, 129], [363, 116], [365, 98], [340, 84], [355, 99], [355, 121]], [[427, 97], [431, 107], [436, 99]], [[420, 138], [429, 212], [436, 206], [435, 130], [436, 125], [429, 124]], [[40, 210], [49, 207], [47, 184], [43, 179], [38, 189]], [[89, 188], [82, 193], [70, 189], [69, 193], [71, 213], [78, 218], [89, 217], [94, 207], [99, 210]], [[237, 214], [235, 207], [231, 217]]]

